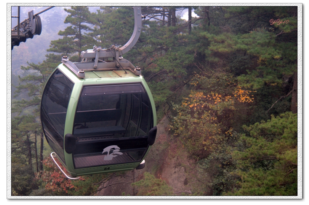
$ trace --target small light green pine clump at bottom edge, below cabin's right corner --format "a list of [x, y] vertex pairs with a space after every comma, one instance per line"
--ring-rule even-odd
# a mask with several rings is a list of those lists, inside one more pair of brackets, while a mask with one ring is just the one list
[[148, 172], [144, 173], [144, 178], [131, 184], [138, 188], [138, 196], [168, 196], [173, 195], [172, 187], [163, 179], [157, 179]]

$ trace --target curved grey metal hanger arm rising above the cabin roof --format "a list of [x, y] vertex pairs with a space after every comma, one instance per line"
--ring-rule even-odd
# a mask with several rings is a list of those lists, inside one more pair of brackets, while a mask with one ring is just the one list
[[142, 9], [141, 6], [134, 6], [134, 31], [130, 38], [130, 40], [120, 48], [121, 54], [125, 54], [128, 52], [138, 41], [139, 36], [141, 35], [142, 31]]

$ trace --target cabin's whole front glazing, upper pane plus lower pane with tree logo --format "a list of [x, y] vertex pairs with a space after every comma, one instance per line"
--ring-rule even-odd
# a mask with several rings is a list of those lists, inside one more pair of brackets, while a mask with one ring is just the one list
[[73, 128], [75, 168], [140, 161], [153, 126], [151, 111], [141, 84], [84, 86]]

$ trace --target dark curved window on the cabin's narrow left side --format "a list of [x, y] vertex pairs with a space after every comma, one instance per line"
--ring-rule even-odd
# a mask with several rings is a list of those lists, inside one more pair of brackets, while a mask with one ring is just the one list
[[46, 83], [41, 102], [41, 121], [45, 137], [63, 162], [66, 111], [73, 86], [74, 83], [57, 69]]

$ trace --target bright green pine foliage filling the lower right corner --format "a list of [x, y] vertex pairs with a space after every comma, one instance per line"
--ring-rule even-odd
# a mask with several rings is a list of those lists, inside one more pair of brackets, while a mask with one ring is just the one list
[[244, 126], [244, 149], [234, 151], [239, 190], [226, 195], [297, 195], [297, 115], [286, 112]]

